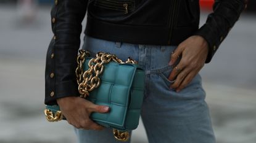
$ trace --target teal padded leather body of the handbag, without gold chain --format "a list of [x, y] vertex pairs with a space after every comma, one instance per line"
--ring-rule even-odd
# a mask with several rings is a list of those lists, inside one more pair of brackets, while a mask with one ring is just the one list
[[[89, 58], [84, 70], [88, 69]], [[144, 95], [144, 71], [136, 64], [104, 64], [100, 75], [101, 85], [91, 91], [86, 98], [94, 104], [110, 107], [110, 112], [91, 114], [92, 120], [99, 125], [122, 131], [136, 129]], [[46, 106], [56, 112], [59, 106]]]

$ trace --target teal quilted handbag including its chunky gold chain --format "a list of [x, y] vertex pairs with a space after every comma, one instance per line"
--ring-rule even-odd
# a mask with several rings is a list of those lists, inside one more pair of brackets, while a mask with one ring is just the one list
[[[84, 62], [81, 63], [82, 61]], [[104, 65], [104, 69], [101, 65]], [[83, 76], [79, 76], [77, 71], [82, 72]], [[82, 97], [94, 104], [110, 107], [108, 113], [91, 114], [92, 120], [99, 125], [113, 128], [116, 139], [127, 141], [129, 134], [126, 131], [136, 129], [139, 123], [144, 95], [144, 71], [138, 67], [138, 64], [123, 63], [115, 55], [100, 53], [100, 56], [97, 55], [92, 60], [86, 58], [84, 50], [80, 50], [76, 75], [80, 84], [78, 90]], [[96, 78], [89, 79], [91, 75], [91, 79]], [[86, 80], [89, 82], [85, 82]], [[50, 122], [62, 119], [57, 105], [46, 105], [44, 114]]]

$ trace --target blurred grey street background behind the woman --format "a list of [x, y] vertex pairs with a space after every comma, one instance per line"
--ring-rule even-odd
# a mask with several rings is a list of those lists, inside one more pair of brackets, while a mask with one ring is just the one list
[[[28, 8], [0, 0], [0, 143], [76, 142], [72, 126], [48, 123], [43, 115], [46, 50], [53, 36], [47, 2]], [[202, 12], [201, 25], [207, 14]], [[218, 143], [256, 142], [255, 42], [256, 13], [245, 12], [200, 72]], [[142, 123], [132, 142], [147, 142]]]

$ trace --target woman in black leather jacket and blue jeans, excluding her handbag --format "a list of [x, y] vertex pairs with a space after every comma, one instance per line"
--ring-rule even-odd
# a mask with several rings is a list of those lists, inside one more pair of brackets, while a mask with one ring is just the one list
[[78, 97], [76, 55], [87, 10], [83, 48], [122, 60], [132, 56], [146, 72], [141, 117], [149, 142], [215, 142], [198, 72], [244, 7], [243, 0], [215, 1], [214, 12], [198, 28], [199, 1], [55, 0], [45, 104], [59, 104], [79, 142], [118, 142], [111, 129], [89, 118], [109, 107]]

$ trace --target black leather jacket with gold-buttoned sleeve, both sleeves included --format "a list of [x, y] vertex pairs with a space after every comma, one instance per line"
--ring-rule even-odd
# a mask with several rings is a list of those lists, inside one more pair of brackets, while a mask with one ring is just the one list
[[55, 0], [51, 10], [54, 36], [46, 57], [45, 104], [79, 95], [76, 55], [86, 11], [85, 34], [99, 39], [178, 45], [189, 36], [200, 35], [209, 44], [209, 63], [245, 5], [244, 0], [216, 0], [214, 12], [199, 29], [199, 0]]

